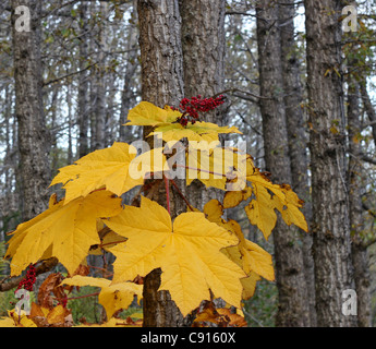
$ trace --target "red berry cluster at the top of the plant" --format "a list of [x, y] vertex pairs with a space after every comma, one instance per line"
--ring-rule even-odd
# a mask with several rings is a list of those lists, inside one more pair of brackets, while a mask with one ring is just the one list
[[198, 112], [207, 112], [216, 109], [218, 106], [225, 103], [225, 96], [219, 95], [218, 97], [202, 98], [201, 95], [196, 97], [183, 98], [180, 101], [179, 109], [183, 116], [178, 120], [183, 127], [186, 127], [189, 121], [194, 124], [198, 120]]

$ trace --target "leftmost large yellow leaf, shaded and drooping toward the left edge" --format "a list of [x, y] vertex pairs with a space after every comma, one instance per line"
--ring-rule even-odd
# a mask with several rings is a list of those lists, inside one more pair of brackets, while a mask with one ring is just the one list
[[7, 251], [7, 257], [12, 257], [11, 275], [21, 274], [43, 256], [57, 257], [73, 275], [90, 245], [100, 243], [97, 218], [116, 216], [121, 209], [121, 198], [102, 190], [66, 205], [63, 200], [51, 200], [47, 210], [12, 233]]

